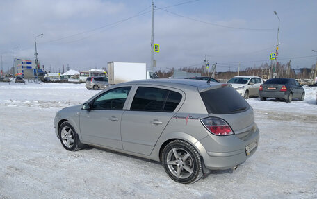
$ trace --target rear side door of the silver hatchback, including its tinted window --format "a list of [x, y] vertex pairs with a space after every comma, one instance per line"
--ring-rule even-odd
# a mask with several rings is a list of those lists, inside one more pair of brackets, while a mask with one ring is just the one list
[[184, 94], [163, 87], [140, 86], [130, 110], [122, 115], [121, 136], [124, 150], [150, 155]]

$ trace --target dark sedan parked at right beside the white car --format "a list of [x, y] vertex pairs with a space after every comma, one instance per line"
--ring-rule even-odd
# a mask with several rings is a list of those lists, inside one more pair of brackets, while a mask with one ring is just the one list
[[291, 102], [293, 98], [303, 101], [305, 98], [305, 90], [297, 80], [293, 78], [272, 78], [261, 85], [259, 89], [261, 101], [266, 98], [284, 99]]

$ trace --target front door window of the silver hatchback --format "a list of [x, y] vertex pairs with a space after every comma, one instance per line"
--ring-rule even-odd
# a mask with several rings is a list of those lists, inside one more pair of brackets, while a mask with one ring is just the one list
[[92, 105], [95, 110], [122, 110], [131, 87], [119, 87], [101, 94]]

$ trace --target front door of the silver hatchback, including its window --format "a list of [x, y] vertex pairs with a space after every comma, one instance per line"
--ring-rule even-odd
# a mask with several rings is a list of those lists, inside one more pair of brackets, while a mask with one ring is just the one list
[[92, 101], [91, 109], [81, 112], [83, 142], [122, 149], [120, 123], [131, 87], [108, 90]]

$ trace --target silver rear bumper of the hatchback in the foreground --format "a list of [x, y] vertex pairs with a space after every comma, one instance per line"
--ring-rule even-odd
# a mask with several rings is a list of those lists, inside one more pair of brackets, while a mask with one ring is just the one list
[[[238, 166], [239, 164], [245, 162], [250, 156], [252, 156], [255, 151], [257, 150], [257, 147], [254, 148], [249, 155], [246, 154], [245, 147], [257, 142], [257, 146], [259, 145], [259, 129], [256, 128], [256, 130], [247, 136], [244, 140], [238, 139], [238, 137], [232, 135], [230, 138], [231, 141], [228, 141], [228, 148], [231, 148], [228, 152], [215, 152], [215, 151], [208, 151], [204, 147], [204, 143], [207, 140], [202, 140], [199, 143], [196, 143], [195, 146], [197, 148], [203, 147], [203, 150], [200, 150], [200, 153], [202, 154], [202, 157], [204, 158], [204, 164], [206, 168], [211, 170], [224, 170], [229, 168], [234, 168], [234, 166]], [[208, 139], [205, 138], [205, 139]], [[232, 140], [236, 139], [234, 142], [236, 142], [234, 148], [235, 150], [232, 150]], [[208, 141], [207, 141], [208, 142]], [[222, 143], [222, 148], [224, 148], [224, 144], [226, 141]], [[199, 146], [202, 144], [202, 146]], [[201, 148], [200, 148], [201, 149]]]

